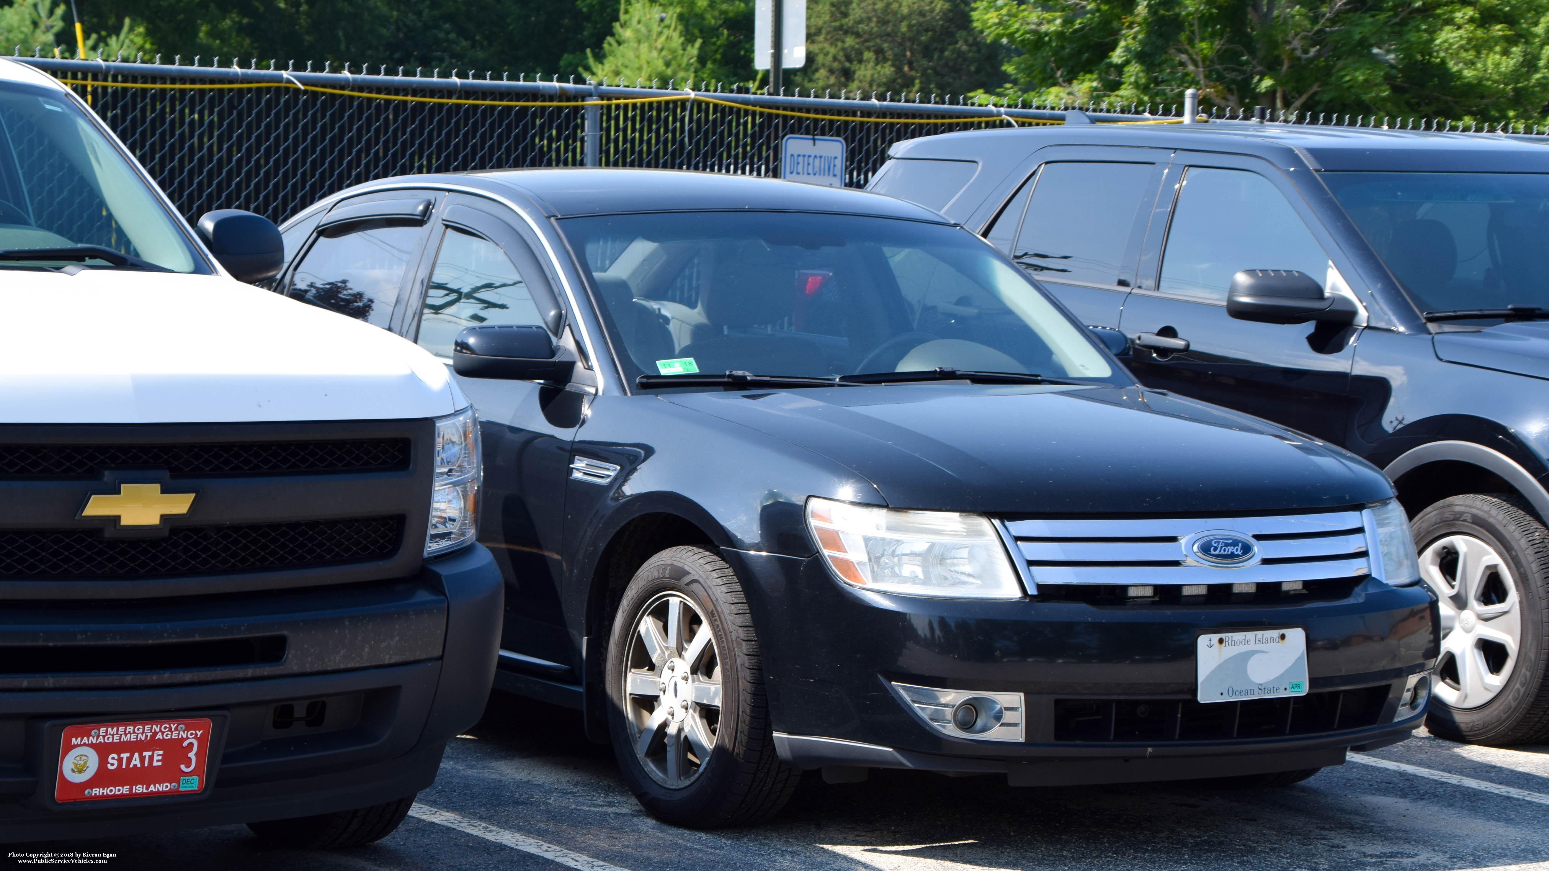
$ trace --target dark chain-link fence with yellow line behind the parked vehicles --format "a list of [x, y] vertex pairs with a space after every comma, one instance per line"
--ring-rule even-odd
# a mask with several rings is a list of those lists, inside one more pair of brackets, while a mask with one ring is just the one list
[[[538, 166], [692, 169], [779, 175], [788, 135], [838, 136], [847, 146], [844, 181], [863, 186], [892, 144], [954, 130], [1064, 124], [1075, 110], [1098, 124], [1179, 124], [1179, 107], [1018, 101], [937, 95], [864, 96], [841, 90], [818, 96], [753, 93], [700, 82], [561, 82], [525, 74], [441, 76], [423, 68], [376, 73], [345, 64], [314, 71], [307, 62], [246, 68], [135, 60], [25, 57], [87, 98], [163, 186], [184, 215], [246, 208], [282, 220], [307, 205], [362, 181], [392, 175]], [[692, 85], [692, 84], [691, 84]], [[1267, 115], [1267, 116], [1266, 116]], [[1077, 116], [1081, 119], [1081, 116]], [[1196, 121], [1252, 121], [1247, 110]], [[1453, 132], [1439, 119], [1317, 119], [1306, 112], [1262, 113], [1270, 124]], [[589, 129], [587, 126], [592, 124]], [[1516, 127], [1521, 127], [1518, 130]], [[1462, 126], [1458, 126], [1461, 130]], [[1476, 126], [1470, 124], [1468, 132]], [[587, 149], [586, 133], [596, 141]], [[1490, 133], [1544, 135], [1535, 126], [1498, 124]]]

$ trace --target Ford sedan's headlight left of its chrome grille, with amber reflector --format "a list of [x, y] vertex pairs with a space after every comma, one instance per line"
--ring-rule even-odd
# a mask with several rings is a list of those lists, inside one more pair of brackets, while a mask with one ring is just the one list
[[943, 598], [1019, 598], [1022, 583], [982, 515], [900, 511], [807, 499], [829, 569], [860, 589]]

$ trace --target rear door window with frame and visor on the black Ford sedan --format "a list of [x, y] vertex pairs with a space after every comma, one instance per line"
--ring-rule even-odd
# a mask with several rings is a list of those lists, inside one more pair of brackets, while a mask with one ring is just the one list
[[276, 290], [397, 330], [440, 198], [435, 191], [383, 191], [339, 200]]

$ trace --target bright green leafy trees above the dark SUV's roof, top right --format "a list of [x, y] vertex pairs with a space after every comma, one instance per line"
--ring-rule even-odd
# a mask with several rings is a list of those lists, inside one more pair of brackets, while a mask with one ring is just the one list
[[1549, 0], [979, 0], [1035, 101], [1537, 118]]

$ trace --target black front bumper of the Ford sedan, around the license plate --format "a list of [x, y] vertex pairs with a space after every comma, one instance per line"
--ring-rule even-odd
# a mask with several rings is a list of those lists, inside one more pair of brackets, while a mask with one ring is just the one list
[[[1400, 696], [1436, 657], [1436, 606], [1422, 586], [1368, 580], [1338, 600], [1241, 604], [951, 601], [853, 590], [819, 559], [723, 553], [753, 609], [776, 745], [802, 769], [1073, 784], [1323, 767], [1419, 727], [1424, 714], [1400, 710]], [[1289, 701], [1194, 702], [1196, 634], [1275, 626], [1307, 632], [1306, 699], [1317, 716]], [[898, 683], [1021, 693], [1022, 739], [945, 735]], [[1270, 702], [1283, 708], [1261, 710]], [[1135, 718], [1142, 704], [1160, 711], [1152, 716], [1216, 725], [1146, 724]]]

